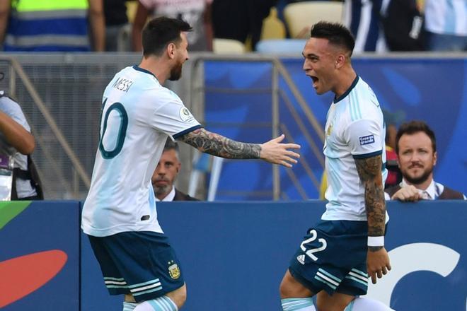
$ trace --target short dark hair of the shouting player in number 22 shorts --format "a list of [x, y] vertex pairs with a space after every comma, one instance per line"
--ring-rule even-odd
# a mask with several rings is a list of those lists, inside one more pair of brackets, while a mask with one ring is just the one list
[[347, 49], [350, 52], [350, 56], [352, 56], [355, 47], [355, 39], [352, 33], [350, 33], [350, 30], [344, 25], [321, 20], [311, 26], [310, 35], [311, 37], [328, 39], [331, 44]]

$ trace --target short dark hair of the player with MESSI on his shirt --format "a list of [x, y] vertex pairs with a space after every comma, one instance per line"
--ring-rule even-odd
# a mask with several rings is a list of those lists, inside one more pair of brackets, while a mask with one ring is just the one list
[[191, 31], [189, 23], [177, 18], [161, 16], [153, 18], [143, 29], [143, 55], [148, 57], [151, 54], [160, 55], [166, 46], [174, 42], [180, 43], [180, 33]]

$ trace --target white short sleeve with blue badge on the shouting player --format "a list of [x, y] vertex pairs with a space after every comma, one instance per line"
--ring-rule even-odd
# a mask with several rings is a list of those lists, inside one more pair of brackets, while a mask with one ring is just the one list
[[384, 130], [382, 124], [371, 119], [352, 122], [345, 132], [353, 158], [369, 158], [383, 152]]

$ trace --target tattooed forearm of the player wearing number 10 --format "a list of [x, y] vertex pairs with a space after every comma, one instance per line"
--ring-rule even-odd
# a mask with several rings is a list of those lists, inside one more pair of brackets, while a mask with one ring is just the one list
[[261, 146], [258, 143], [241, 143], [205, 129], [196, 129], [180, 136], [180, 141], [188, 143], [199, 151], [228, 159], [258, 159]]

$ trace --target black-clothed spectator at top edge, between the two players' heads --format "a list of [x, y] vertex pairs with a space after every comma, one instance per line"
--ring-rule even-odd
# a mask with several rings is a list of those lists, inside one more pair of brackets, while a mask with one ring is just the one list
[[212, 4], [214, 37], [245, 43], [254, 50], [260, 40], [263, 20], [277, 0], [215, 0]]

